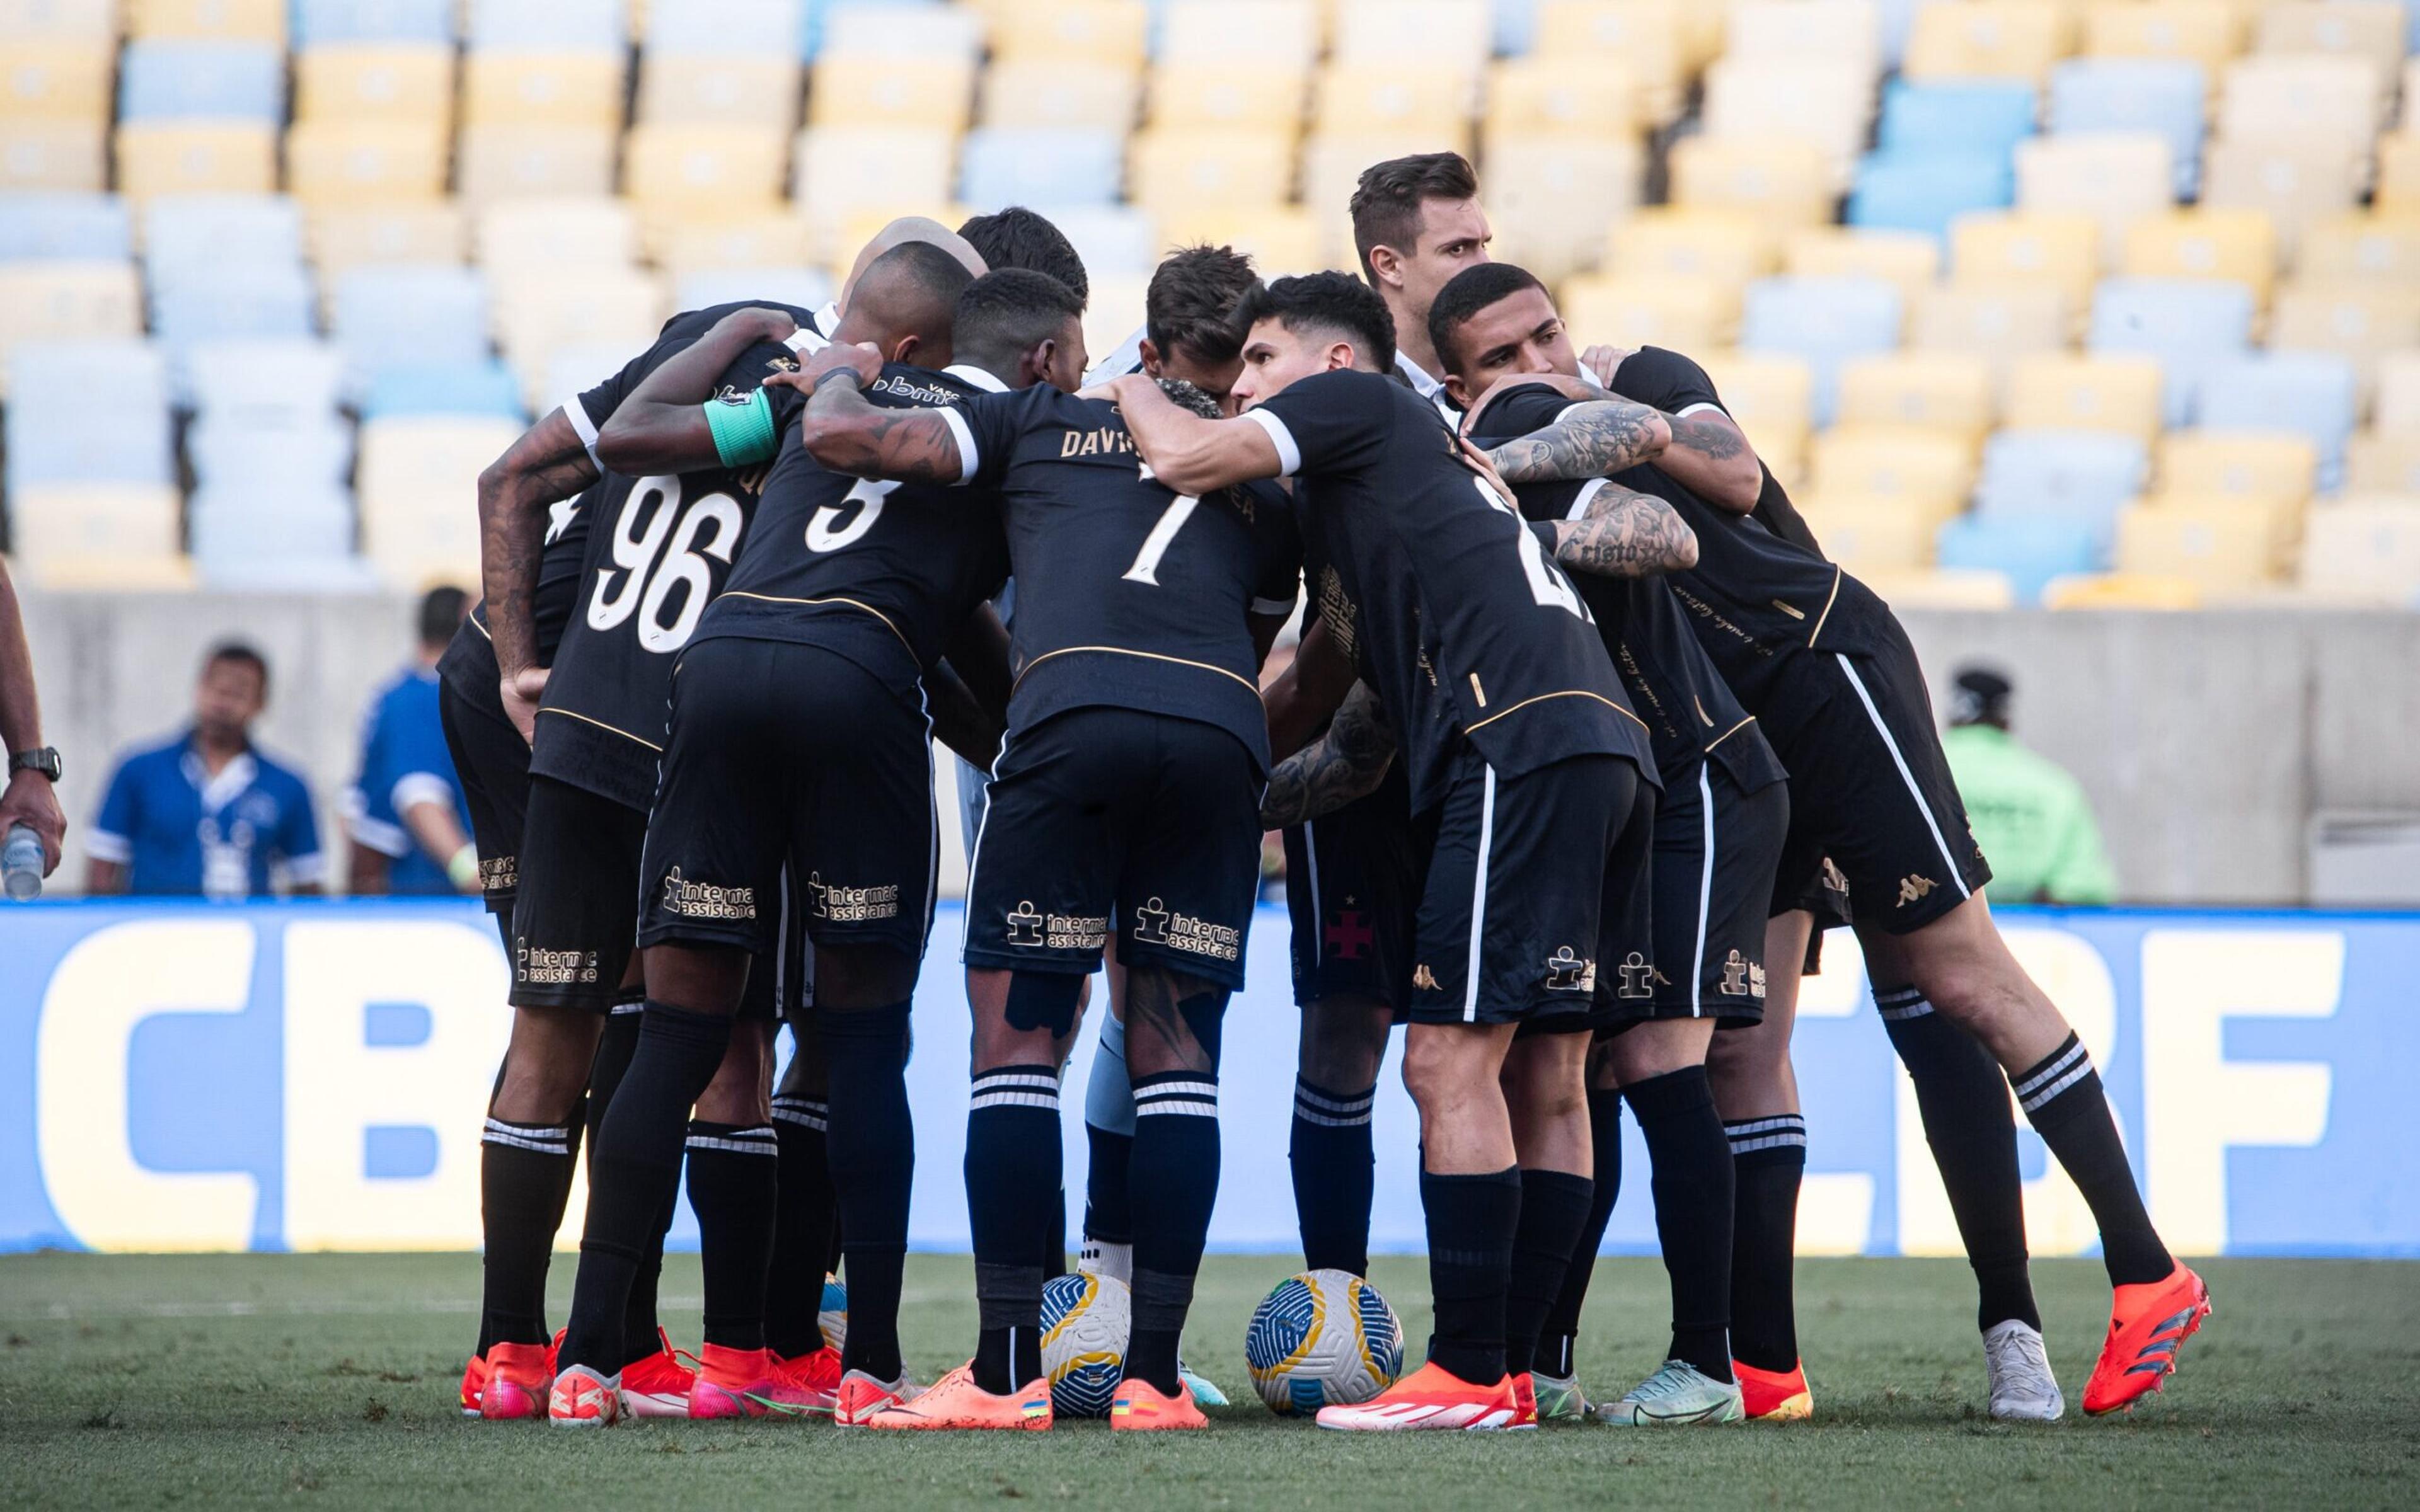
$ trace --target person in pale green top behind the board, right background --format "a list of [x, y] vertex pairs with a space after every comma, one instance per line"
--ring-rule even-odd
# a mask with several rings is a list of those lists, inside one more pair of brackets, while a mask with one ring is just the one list
[[2110, 902], [2118, 876], [2093, 806], [2067, 767], [2009, 733], [2013, 694], [2006, 675], [1960, 668], [1941, 738], [1975, 842], [1992, 856], [1992, 890], [2009, 902]]

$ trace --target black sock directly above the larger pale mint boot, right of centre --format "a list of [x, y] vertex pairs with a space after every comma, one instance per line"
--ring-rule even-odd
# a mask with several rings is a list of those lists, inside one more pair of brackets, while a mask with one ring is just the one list
[[1621, 1089], [1648, 1142], [1655, 1241], [1672, 1277], [1667, 1360], [1730, 1379], [1730, 1139], [1713, 1110], [1706, 1067], [1684, 1067]]

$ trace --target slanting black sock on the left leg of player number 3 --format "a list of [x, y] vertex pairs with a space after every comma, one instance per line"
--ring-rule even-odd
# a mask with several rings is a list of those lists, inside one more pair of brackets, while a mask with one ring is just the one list
[[690, 1108], [714, 1081], [728, 1048], [728, 1014], [646, 1004], [639, 1048], [588, 1154], [588, 1224], [581, 1231], [581, 1272], [571, 1285], [564, 1364], [605, 1369], [610, 1360], [612, 1369], [622, 1367], [632, 1280], [646, 1260], [651, 1231], [673, 1207]]

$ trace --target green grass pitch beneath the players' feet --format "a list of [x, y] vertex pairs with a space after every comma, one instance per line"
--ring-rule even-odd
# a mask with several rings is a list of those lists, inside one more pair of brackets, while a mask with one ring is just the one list
[[[465, 1422], [474, 1256], [0, 1258], [0, 1505], [327, 1507], [2389, 1507], [2420, 1502], [2420, 1265], [2217, 1260], [2217, 1316], [2134, 1418], [2074, 1413], [2105, 1321], [2101, 1265], [2038, 1265], [2057, 1425], [1982, 1415], [1955, 1260], [1805, 1260], [1805, 1425], [1326, 1435], [1244, 1379], [1244, 1318], [1287, 1258], [1212, 1258], [1188, 1333], [1239, 1398], [1205, 1435], [866, 1435], [823, 1422]], [[557, 1263], [557, 1311], [569, 1285]], [[1418, 1260], [1375, 1275], [1425, 1338]], [[666, 1321], [695, 1340], [697, 1265]], [[973, 1343], [970, 1268], [908, 1268], [924, 1379]], [[1583, 1377], [1655, 1367], [1653, 1260], [1604, 1260]], [[905, 1442], [903, 1442], [905, 1439]], [[1007, 1442], [1004, 1442], [1007, 1439]]]

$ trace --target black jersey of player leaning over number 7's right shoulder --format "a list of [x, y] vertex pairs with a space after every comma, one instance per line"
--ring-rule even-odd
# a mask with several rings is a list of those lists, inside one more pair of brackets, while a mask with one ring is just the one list
[[1503, 774], [1617, 755], [1655, 779], [1588, 602], [1430, 402], [1377, 373], [1321, 373], [1249, 419], [1358, 610], [1358, 658], [1396, 721], [1413, 810], [1445, 796], [1457, 738]]

